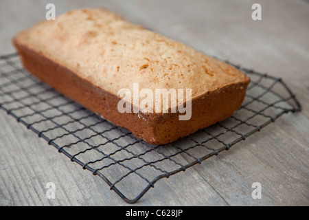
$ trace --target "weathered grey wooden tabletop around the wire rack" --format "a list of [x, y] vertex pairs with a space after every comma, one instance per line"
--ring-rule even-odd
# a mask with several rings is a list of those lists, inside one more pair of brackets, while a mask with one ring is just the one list
[[[56, 14], [103, 7], [211, 56], [283, 78], [303, 106], [231, 151], [155, 184], [139, 206], [309, 205], [309, 2], [290, 1], [0, 1], [0, 55], [14, 34]], [[262, 5], [262, 21], [251, 5]], [[102, 179], [72, 163], [0, 111], [0, 206], [128, 206]], [[185, 159], [185, 158], [183, 158]], [[56, 199], [45, 185], [56, 184]], [[253, 199], [253, 182], [262, 199]], [[131, 206], [131, 205], [130, 205]]]

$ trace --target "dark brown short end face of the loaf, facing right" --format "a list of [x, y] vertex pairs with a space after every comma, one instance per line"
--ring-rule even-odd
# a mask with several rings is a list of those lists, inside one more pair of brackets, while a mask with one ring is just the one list
[[[192, 117], [179, 120], [179, 113], [160, 115], [155, 120], [152, 142], [164, 144], [186, 137], [207, 126], [229, 118], [237, 111], [246, 96], [247, 82], [227, 85], [192, 100]], [[159, 139], [156, 139], [158, 138]]]

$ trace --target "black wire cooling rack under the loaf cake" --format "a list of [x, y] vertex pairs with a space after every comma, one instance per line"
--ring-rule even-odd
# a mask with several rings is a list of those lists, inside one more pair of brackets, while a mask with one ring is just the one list
[[0, 108], [49, 145], [101, 177], [128, 203], [154, 184], [229, 150], [301, 105], [280, 78], [235, 65], [251, 77], [242, 107], [227, 120], [165, 145], [151, 145], [29, 74], [17, 54], [0, 57]]

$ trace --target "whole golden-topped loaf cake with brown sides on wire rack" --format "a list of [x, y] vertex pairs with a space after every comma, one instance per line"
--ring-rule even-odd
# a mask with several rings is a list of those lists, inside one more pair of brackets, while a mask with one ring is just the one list
[[67, 12], [13, 43], [30, 73], [150, 144], [229, 118], [250, 81], [227, 63], [104, 9]]

